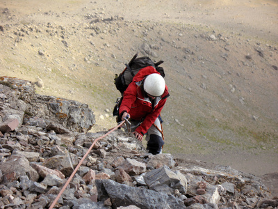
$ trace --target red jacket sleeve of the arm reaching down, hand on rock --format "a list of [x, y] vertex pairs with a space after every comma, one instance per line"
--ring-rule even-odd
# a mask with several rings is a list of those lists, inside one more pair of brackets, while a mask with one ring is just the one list
[[139, 125], [136, 128], [136, 132], [142, 134], [142, 136], [144, 136], [144, 134], [147, 133], [147, 130], [149, 130], [149, 127], [151, 127], [154, 124], [154, 121], [156, 121], [156, 118], [158, 118], [159, 114], [161, 114], [161, 110], [163, 109], [166, 100], [167, 99], [165, 98], [158, 102], [158, 107], [152, 113], [147, 114], [146, 118], [141, 123], [141, 125]]

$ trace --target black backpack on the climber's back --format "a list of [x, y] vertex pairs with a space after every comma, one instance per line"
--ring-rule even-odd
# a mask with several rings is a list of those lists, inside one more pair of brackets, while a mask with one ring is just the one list
[[[163, 61], [158, 61], [157, 63], [155, 63], [148, 56], [142, 56], [138, 58], [137, 56], [138, 54], [135, 54], [129, 62], [129, 64], [125, 64], [126, 68], [124, 68], [120, 75], [115, 74], [114, 83], [117, 90], [119, 90], [122, 95], [124, 95], [124, 91], [126, 91], [126, 88], [132, 82], [133, 77], [142, 68], [146, 68], [147, 66], [153, 66], [161, 74], [162, 77], [165, 77], [164, 69], [162, 67], [158, 67], [158, 65], [161, 65]], [[116, 105], [113, 110], [113, 116], [117, 116], [117, 122], [120, 122], [119, 109], [122, 103], [122, 98], [117, 99]]]

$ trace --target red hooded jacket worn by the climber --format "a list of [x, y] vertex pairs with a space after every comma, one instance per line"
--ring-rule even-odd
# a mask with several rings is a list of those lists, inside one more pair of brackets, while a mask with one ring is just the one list
[[130, 114], [131, 119], [142, 121], [141, 125], [136, 128], [136, 132], [142, 134], [147, 133], [149, 127], [152, 126], [156, 118], [161, 114], [161, 110], [169, 96], [168, 88], [165, 86], [163, 95], [154, 100], [154, 107], [149, 98], [144, 97], [144, 93], [140, 88], [142, 80], [152, 73], [158, 73], [152, 66], [142, 68], [134, 77], [129, 87], [124, 91], [124, 98], [120, 106], [120, 116], [126, 111]]

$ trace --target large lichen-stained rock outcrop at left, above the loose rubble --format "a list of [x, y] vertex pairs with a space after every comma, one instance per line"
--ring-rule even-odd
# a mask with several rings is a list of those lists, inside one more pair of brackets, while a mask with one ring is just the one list
[[1, 121], [16, 118], [19, 125], [22, 125], [26, 114], [28, 118], [35, 116], [62, 124], [74, 132], [88, 132], [95, 125], [95, 115], [88, 104], [38, 95], [34, 84], [14, 77], [0, 77], [0, 85], [3, 88], [0, 100]]

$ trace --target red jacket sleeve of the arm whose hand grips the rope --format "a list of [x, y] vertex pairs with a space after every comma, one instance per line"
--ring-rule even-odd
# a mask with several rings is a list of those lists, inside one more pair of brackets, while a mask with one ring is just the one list
[[131, 109], [131, 105], [136, 100], [136, 93], [137, 93], [136, 84], [134, 82], [131, 82], [131, 84], [129, 84], [129, 86], [126, 88], [126, 91], [124, 91], [124, 98], [122, 99], [122, 104], [119, 109], [121, 117], [125, 111], [129, 113]]

